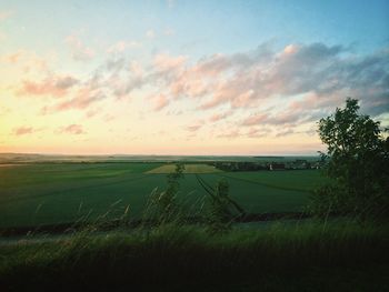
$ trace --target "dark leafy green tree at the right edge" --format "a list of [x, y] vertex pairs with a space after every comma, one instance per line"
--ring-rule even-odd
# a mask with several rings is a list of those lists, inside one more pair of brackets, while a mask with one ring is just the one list
[[327, 145], [326, 174], [331, 179], [315, 193], [313, 213], [347, 213], [365, 218], [389, 212], [389, 140], [380, 122], [358, 113], [355, 99], [345, 109], [319, 121], [319, 135]]

